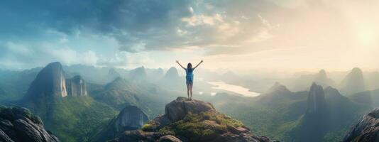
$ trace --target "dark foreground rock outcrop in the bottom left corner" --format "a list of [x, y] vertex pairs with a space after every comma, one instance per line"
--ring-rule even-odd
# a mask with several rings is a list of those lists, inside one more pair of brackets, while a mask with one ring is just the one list
[[0, 141], [59, 142], [28, 109], [0, 107]]

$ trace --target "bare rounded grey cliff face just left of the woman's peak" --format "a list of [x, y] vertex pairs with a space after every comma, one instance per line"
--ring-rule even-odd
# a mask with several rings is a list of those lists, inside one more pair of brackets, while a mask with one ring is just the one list
[[141, 109], [136, 106], [128, 106], [117, 116], [114, 126], [116, 132], [121, 133], [126, 130], [139, 129], [146, 121], [148, 121], [148, 116]]

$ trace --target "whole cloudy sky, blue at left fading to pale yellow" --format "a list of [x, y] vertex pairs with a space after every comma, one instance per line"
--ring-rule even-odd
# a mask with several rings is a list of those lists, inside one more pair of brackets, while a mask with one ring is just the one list
[[376, 70], [376, 0], [5, 0], [0, 69]]

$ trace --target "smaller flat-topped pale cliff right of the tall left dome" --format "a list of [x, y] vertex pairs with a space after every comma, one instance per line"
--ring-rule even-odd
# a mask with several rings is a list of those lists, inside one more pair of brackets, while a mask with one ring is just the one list
[[87, 96], [87, 86], [81, 76], [77, 75], [70, 80], [66, 80], [67, 95]]

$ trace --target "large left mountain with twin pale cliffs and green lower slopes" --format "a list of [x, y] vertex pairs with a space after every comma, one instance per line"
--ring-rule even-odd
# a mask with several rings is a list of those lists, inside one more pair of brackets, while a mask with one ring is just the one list
[[[66, 86], [67, 85], [67, 86]], [[94, 129], [109, 121], [116, 111], [87, 95], [80, 76], [65, 79], [59, 62], [41, 70], [18, 105], [41, 117], [45, 128], [62, 141], [85, 141]]]

